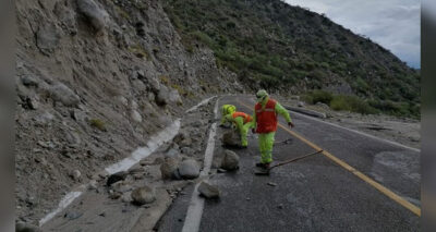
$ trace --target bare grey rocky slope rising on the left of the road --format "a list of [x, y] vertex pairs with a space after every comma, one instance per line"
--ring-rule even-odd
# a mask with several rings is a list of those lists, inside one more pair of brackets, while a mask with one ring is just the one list
[[242, 89], [211, 50], [186, 51], [157, 0], [15, 5], [19, 220], [40, 219], [205, 95]]

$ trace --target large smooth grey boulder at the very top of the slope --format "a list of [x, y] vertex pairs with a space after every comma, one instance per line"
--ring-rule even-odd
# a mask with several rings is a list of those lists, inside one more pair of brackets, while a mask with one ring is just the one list
[[78, 11], [86, 17], [95, 30], [101, 32], [105, 29], [108, 13], [100, 9], [93, 0], [77, 0]]

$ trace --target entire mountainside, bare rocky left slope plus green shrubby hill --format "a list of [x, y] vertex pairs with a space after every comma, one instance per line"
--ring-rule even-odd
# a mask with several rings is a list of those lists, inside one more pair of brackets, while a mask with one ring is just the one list
[[19, 221], [37, 223], [206, 96], [323, 88], [405, 113], [419, 103], [419, 75], [389, 51], [278, 0], [15, 7]]

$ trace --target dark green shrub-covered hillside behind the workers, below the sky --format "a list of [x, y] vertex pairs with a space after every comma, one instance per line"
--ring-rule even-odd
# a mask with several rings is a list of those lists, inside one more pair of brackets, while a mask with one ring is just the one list
[[280, 0], [164, 1], [186, 50], [209, 47], [251, 89], [324, 89], [383, 112], [420, 114], [420, 74], [324, 15]]

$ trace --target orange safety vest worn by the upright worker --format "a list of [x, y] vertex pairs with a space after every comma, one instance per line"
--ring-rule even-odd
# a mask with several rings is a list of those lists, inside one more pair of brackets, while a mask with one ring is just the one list
[[254, 107], [256, 110], [256, 133], [269, 133], [277, 131], [277, 113], [276, 102], [269, 99], [266, 102], [265, 109], [262, 109], [262, 105], [258, 102]]

